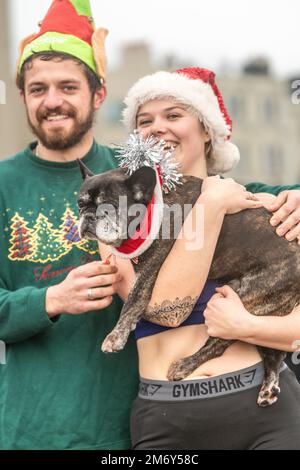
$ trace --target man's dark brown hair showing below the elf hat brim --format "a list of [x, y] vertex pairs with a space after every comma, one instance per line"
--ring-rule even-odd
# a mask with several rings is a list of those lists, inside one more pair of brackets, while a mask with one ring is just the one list
[[35, 59], [44, 60], [45, 62], [48, 62], [50, 60], [53, 60], [54, 62], [62, 62], [64, 60], [73, 60], [73, 62], [75, 62], [79, 67], [82, 68], [83, 73], [88, 81], [89, 89], [92, 93], [92, 96], [94, 96], [96, 91], [102, 86], [99, 77], [97, 77], [97, 75], [80, 59], [77, 59], [76, 57], [70, 54], [67, 54], [65, 52], [49, 51], [49, 52], [38, 52], [36, 54], [33, 54], [22, 65], [21, 71], [17, 76], [17, 87], [23, 93], [25, 91], [25, 74], [28, 70], [32, 68], [33, 66], [32, 63]]

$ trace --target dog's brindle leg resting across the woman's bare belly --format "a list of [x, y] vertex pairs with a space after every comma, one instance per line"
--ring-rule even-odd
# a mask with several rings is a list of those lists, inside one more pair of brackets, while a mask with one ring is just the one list
[[192, 356], [184, 357], [173, 362], [168, 370], [168, 380], [182, 380], [190, 375], [197, 367], [204, 362], [222, 356], [224, 351], [234, 343], [234, 340], [221, 338], [208, 338], [205, 345]]

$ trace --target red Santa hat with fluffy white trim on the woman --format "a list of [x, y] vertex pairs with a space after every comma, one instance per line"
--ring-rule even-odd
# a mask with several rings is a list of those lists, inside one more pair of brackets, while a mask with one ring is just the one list
[[160, 71], [138, 80], [124, 100], [123, 122], [128, 131], [135, 129], [141, 105], [162, 98], [173, 98], [187, 105], [203, 123], [212, 145], [207, 159], [210, 174], [225, 173], [238, 163], [239, 150], [229, 142], [232, 121], [215, 83], [214, 72], [191, 67], [175, 72]]

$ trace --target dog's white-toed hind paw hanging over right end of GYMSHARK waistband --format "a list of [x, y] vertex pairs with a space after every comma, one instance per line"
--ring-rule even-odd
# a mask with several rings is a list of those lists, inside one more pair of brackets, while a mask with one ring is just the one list
[[279, 370], [286, 353], [262, 346], [258, 346], [258, 350], [263, 359], [265, 376], [258, 394], [257, 404], [259, 406], [269, 406], [277, 401], [280, 393]]

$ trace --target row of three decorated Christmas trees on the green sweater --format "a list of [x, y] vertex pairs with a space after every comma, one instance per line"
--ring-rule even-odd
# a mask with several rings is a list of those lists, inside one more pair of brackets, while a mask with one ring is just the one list
[[33, 228], [30, 228], [29, 222], [16, 212], [11, 218], [8, 258], [11, 261], [44, 264], [57, 261], [74, 248], [91, 255], [98, 253], [97, 244], [80, 239], [78, 219], [72, 209], [66, 208], [61, 221], [56, 229], [48, 217], [39, 214]]

